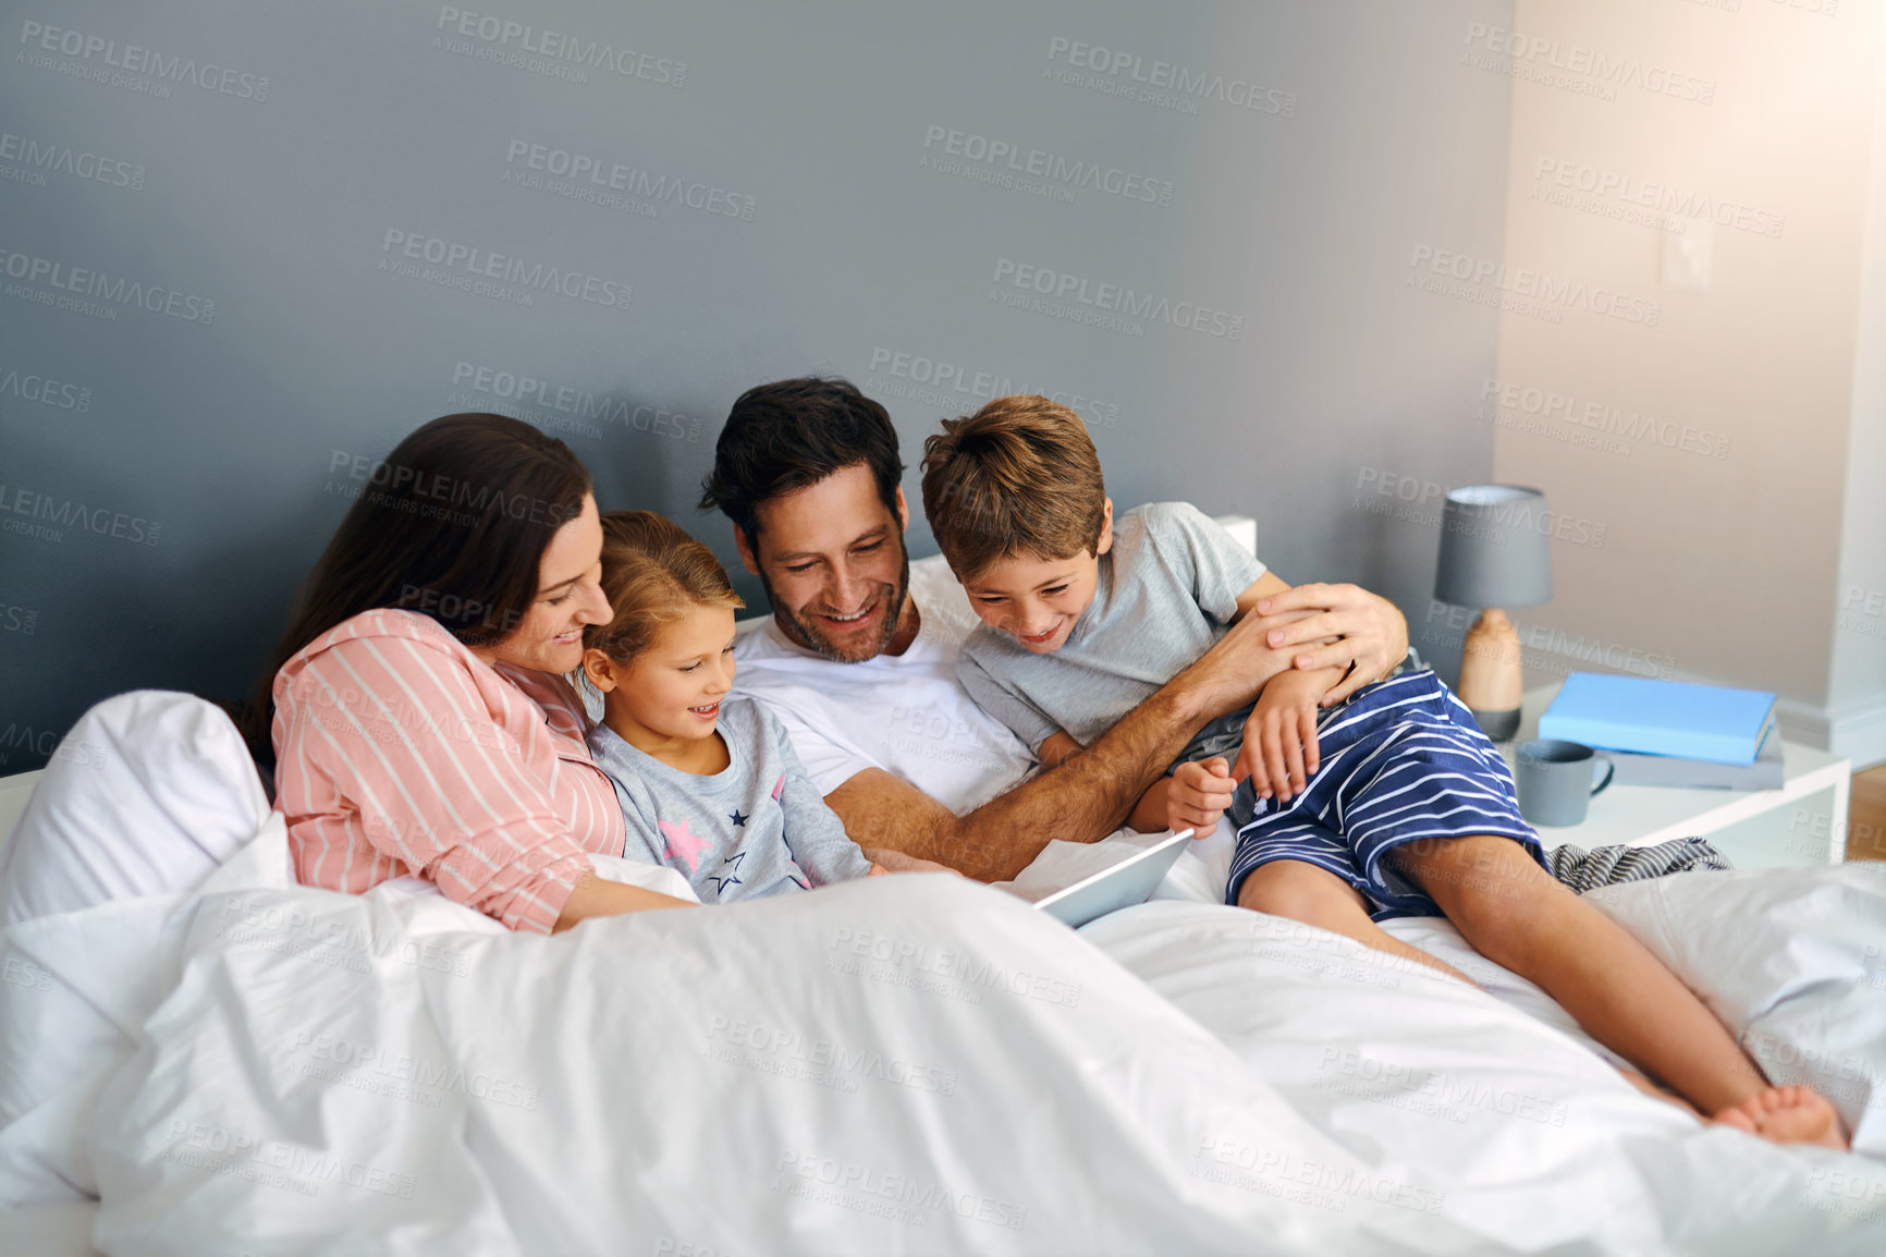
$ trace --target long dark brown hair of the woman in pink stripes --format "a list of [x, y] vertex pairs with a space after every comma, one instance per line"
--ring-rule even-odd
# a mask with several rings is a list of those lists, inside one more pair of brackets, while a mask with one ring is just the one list
[[309, 642], [375, 608], [430, 615], [466, 645], [511, 636], [538, 600], [543, 551], [583, 513], [590, 474], [570, 445], [505, 415], [445, 415], [385, 461], [349, 464], [347, 510], [270, 655], [243, 736], [273, 779], [275, 674]]

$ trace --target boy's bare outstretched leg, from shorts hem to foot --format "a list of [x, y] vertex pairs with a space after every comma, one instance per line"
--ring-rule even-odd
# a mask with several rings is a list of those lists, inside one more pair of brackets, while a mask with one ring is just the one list
[[1648, 947], [1560, 885], [1520, 844], [1497, 836], [1409, 842], [1388, 859], [1486, 959], [1535, 981], [1592, 1038], [1703, 1114], [1782, 1140], [1846, 1148], [1826, 1100], [1769, 1087], [1722, 1021]]

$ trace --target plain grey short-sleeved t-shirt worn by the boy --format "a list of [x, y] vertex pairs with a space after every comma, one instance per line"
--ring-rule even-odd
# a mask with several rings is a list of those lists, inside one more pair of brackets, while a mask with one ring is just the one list
[[[1094, 602], [1058, 651], [1032, 655], [984, 625], [964, 642], [956, 678], [1032, 749], [1064, 730], [1092, 746], [1224, 636], [1260, 576], [1264, 564], [1198, 508], [1135, 506], [1115, 521]], [[1235, 749], [1249, 713], [1215, 719], [1177, 763]]]

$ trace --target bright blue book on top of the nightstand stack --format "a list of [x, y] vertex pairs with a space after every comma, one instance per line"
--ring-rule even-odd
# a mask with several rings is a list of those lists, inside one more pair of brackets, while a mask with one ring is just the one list
[[1775, 695], [1724, 685], [1573, 672], [1539, 717], [1541, 738], [1607, 751], [1752, 764], [1775, 727]]

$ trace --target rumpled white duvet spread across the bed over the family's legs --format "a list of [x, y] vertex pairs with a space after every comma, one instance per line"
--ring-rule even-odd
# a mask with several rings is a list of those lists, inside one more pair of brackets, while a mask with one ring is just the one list
[[[1599, 898], [1886, 1151], [1886, 868]], [[96, 1187], [108, 1253], [1886, 1249], [1880, 1161], [1703, 1129], [1511, 976], [1209, 902], [1073, 932], [896, 876], [543, 940], [294, 887], [272, 821], [0, 946], [9, 1034], [60, 1044], [0, 1193]]]

